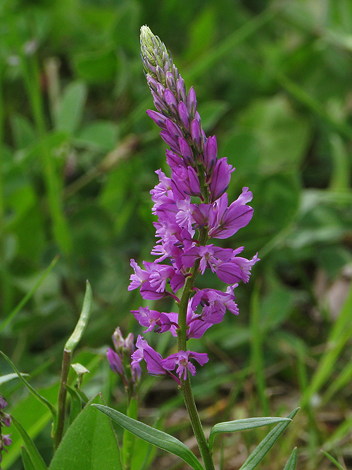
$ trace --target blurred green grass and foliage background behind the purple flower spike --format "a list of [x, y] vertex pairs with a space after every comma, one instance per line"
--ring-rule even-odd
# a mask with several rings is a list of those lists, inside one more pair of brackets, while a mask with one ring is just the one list
[[[194, 378], [203, 419], [284, 415], [301, 404], [263, 468], [282, 469], [292, 445], [298, 470], [335, 468], [319, 449], [352, 468], [350, 0], [2, 0], [1, 321], [60, 256], [1, 328], [0, 349], [51, 397], [89, 279], [94, 307], [77, 361], [91, 373], [87, 395], [103, 389], [123, 409], [103, 356], [116, 326], [141, 333], [130, 258], [151, 261], [149, 191], [165, 169], [165, 144], [145, 113], [144, 24], [194, 86], [219, 156], [237, 168], [230, 200], [243, 186], [253, 192], [253, 220], [225, 243], [261, 261], [237, 289], [239, 317], [227, 314], [203, 338], [211, 359]], [[200, 282], [222, 287], [210, 275]], [[162, 353], [172, 347], [151, 341]], [[20, 385], [1, 390], [48, 461], [47, 412]], [[162, 419], [183, 409], [155, 378], [145, 377], [141, 395]], [[164, 425], [188, 435], [182, 419]], [[241, 466], [260, 432], [223, 438], [224, 469]], [[19, 446], [4, 469], [21, 468]]]

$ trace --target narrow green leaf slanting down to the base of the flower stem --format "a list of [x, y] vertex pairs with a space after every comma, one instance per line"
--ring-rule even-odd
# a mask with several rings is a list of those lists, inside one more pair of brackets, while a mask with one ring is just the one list
[[174, 438], [172, 435], [158, 431], [158, 429], [151, 428], [140, 421], [131, 419], [125, 414], [117, 412], [115, 409], [104, 407], [99, 404], [94, 404], [94, 407], [99, 411], [105, 413], [110, 419], [120, 424], [122, 428], [127, 429], [139, 438], [146, 440], [147, 443], [156, 445], [163, 450], [167, 450], [172, 454], [180, 457], [184, 462], [189, 464], [194, 470], [204, 470], [196, 456], [184, 445], [180, 440]]

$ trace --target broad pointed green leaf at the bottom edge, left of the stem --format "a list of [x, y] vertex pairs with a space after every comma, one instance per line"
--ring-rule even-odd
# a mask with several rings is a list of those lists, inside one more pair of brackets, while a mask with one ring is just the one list
[[90, 405], [103, 403], [100, 395], [84, 407], [65, 433], [49, 470], [122, 470], [120, 450], [110, 421]]

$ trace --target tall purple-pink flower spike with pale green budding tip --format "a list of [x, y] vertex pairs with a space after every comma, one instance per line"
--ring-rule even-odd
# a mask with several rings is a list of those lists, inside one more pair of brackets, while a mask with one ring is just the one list
[[[247, 204], [252, 193], [244, 187], [238, 199], [228, 205], [226, 190], [234, 168], [226, 158], [217, 158], [215, 136], [206, 137], [193, 87], [187, 94], [184, 80], [165, 45], [146, 26], [141, 28], [141, 47], [146, 80], [158, 110], [147, 113], [161, 128], [160, 135], [170, 147], [166, 150], [166, 161], [171, 176], [156, 171], [159, 183], [151, 190], [152, 211], [158, 218], [154, 223], [158, 241], [151, 251], [157, 256], [156, 261], [143, 261], [143, 269], [132, 259], [134, 273], [128, 289], [140, 288], [144, 299], [171, 296], [180, 304], [182, 297], [177, 297], [177, 291], [182, 287], [185, 290], [188, 282], [191, 295], [186, 299], [186, 340], [201, 338], [210, 326], [222, 321], [226, 309], [232, 314], [239, 313], [234, 287], [241, 280], [248, 282], [251, 268], [258, 260], [258, 256], [251, 260], [239, 256], [244, 247], [225, 249], [208, 243], [210, 238], [231, 237], [249, 223], [253, 209]], [[196, 276], [206, 269], [228, 284], [226, 292], [194, 287]], [[145, 331], [169, 330], [173, 336], [180, 335], [180, 312], [140, 307], [132, 313], [146, 327]], [[163, 359], [139, 335], [132, 359], [132, 366], [144, 359], [149, 373], [169, 374], [180, 383], [186, 380], [187, 371], [192, 375], [196, 372], [189, 359], [203, 365], [208, 356], [179, 350]]]

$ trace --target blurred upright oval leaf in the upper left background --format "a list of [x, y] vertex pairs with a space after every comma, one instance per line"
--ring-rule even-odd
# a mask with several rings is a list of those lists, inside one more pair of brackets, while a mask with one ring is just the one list
[[87, 97], [87, 87], [83, 82], [70, 83], [63, 92], [56, 118], [56, 128], [75, 134], [83, 115], [84, 104]]

